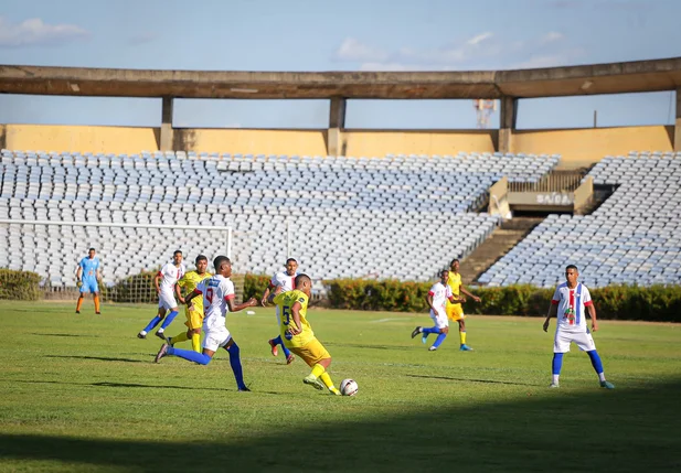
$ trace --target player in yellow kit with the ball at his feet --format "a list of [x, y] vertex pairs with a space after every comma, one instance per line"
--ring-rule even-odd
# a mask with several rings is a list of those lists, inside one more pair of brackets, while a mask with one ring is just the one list
[[312, 373], [302, 379], [302, 383], [340, 396], [341, 393], [333, 386], [331, 376], [327, 373], [331, 365], [331, 355], [315, 336], [307, 320], [307, 308], [312, 289], [312, 280], [307, 275], [296, 276], [294, 290], [283, 292], [281, 286], [269, 293], [267, 302], [279, 308], [279, 332], [284, 345], [298, 355], [311, 368]]

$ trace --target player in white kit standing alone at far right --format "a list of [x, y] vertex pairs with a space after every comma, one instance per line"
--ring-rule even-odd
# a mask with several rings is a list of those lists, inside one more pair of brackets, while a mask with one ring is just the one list
[[551, 318], [558, 318], [553, 340], [553, 379], [550, 387], [557, 388], [561, 367], [563, 366], [563, 354], [570, 352], [570, 344], [574, 342], [579, 350], [586, 352], [592, 359], [592, 366], [598, 375], [600, 387], [613, 389], [615, 386], [605, 379], [603, 363], [596, 352], [596, 344], [587, 324], [585, 309], [592, 318], [592, 331], [598, 330], [596, 321], [596, 308], [592, 302], [592, 294], [586, 286], [577, 281], [579, 271], [574, 265], [565, 268], [566, 282], [560, 284], [553, 293], [549, 314], [544, 321], [544, 332], [549, 330]]

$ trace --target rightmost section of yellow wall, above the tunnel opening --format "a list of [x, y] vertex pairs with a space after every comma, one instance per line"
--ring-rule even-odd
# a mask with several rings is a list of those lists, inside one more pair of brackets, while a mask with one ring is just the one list
[[673, 151], [673, 127], [581, 128], [517, 130], [511, 149], [525, 154], [561, 154], [558, 168], [578, 168], [607, 154], [629, 151]]

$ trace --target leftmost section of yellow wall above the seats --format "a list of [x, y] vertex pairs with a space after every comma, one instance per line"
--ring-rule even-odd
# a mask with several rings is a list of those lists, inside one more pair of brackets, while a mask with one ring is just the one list
[[0, 147], [33, 151], [134, 153], [158, 150], [158, 128], [4, 125], [0, 126]]

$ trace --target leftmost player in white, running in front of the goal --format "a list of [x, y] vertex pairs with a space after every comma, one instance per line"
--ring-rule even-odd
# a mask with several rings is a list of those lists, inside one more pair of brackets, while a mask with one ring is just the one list
[[184, 276], [184, 265], [182, 264], [182, 251], [179, 249], [172, 254], [172, 262], [164, 265], [153, 278], [156, 292], [159, 294], [159, 310], [153, 319], [138, 334], [138, 338], [146, 338], [147, 333], [151, 332], [156, 326], [163, 321], [166, 312], [170, 311], [161, 327], [156, 332], [156, 336], [166, 340], [163, 332], [178, 316], [178, 302], [175, 301], [175, 286]]

